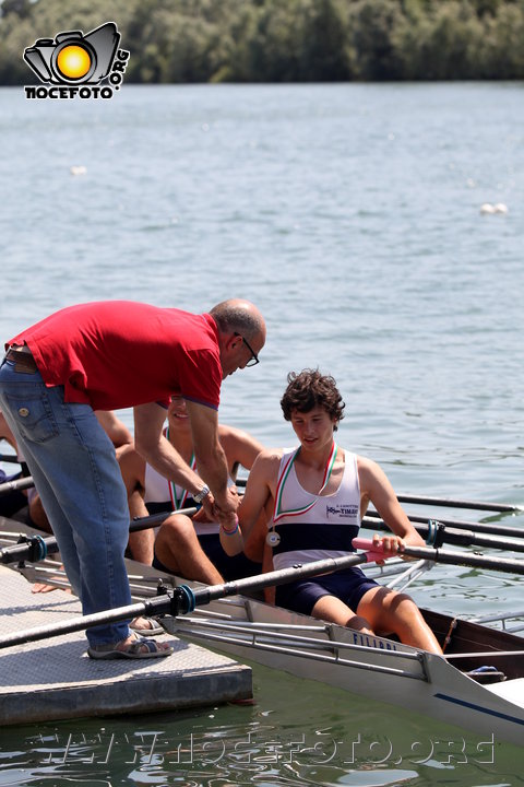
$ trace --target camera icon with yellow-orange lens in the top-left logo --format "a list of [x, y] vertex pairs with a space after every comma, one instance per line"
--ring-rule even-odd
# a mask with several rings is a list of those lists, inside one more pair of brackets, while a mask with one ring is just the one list
[[93, 85], [111, 70], [120, 33], [114, 22], [87, 33], [67, 31], [55, 39], [38, 38], [24, 50], [24, 60], [41, 82], [56, 85]]

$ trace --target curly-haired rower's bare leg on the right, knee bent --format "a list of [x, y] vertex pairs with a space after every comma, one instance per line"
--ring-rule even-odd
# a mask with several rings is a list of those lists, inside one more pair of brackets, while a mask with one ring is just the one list
[[393, 632], [404, 645], [442, 655], [442, 648], [422, 618], [416, 603], [406, 596], [384, 587], [368, 590], [357, 611], [380, 634]]

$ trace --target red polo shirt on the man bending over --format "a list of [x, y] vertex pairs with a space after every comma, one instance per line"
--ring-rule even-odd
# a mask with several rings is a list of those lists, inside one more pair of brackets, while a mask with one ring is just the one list
[[19, 333], [47, 386], [64, 386], [68, 402], [116, 410], [169, 402], [174, 393], [217, 409], [222, 385], [218, 330], [193, 315], [133, 301], [61, 309]]

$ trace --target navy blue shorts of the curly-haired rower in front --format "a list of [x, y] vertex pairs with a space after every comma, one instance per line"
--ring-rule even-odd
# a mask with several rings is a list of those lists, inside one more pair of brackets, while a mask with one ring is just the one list
[[362, 596], [376, 587], [379, 587], [379, 584], [374, 579], [369, 579], [360, 568], [349, 568], [289, 585], [279, 585], [276, 588], [275, 600], [278, 607], [311, 614], [319, 599], [324, 596], [335, 596], [356, 612]]

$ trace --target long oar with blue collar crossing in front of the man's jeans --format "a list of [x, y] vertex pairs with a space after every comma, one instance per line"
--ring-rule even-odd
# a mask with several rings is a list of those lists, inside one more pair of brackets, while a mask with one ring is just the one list
[[235, 579], [222, 585], [209, 585], [200, 590], [193, 590], [187, 585], [180, 585], [172, 589], [166, 588], [166, 595], [138, 601], [128, 607], [95, 612], [90, 615], [79, 615], [78, 618], [64, 620], [59, 623], [35, 626], [34, 629], [26, 629], [15, 634], [9, 634], [0, 638], [0, 648], [61, 636], [62, 634], [84, 631], [85, 629], [100, 624], [116, 623], [120, 620], [131, 620], [140, 615], [187, 614], [188, 612], [192, 612], [195, 607], [202, 607], [216, 599], [237, 596], [246, 591], [261, 590], [264, 587], [273, 585], [284, 585], [285, 583], [305, 579], [317, 574], [331, 574], [341, 568], [348, 568], [366, 562], [366, 554], [349, 554], [344, 557], [329, 557], [306, 565], [282, 568], [279, 571], [269, 572], [267, 574], [257, 574], [252, 577]]

